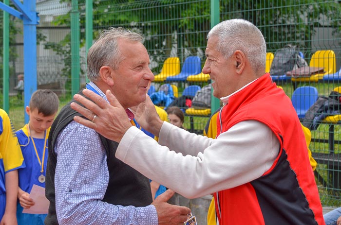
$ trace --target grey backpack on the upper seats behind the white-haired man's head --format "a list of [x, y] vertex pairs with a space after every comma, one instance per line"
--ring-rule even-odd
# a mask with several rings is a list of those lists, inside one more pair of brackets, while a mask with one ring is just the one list
[[271, 68], [271, 75], [284, 75], [287, 71], [308, 66], [307, 62], [300, 56], [295, 46], [285, 45], [284, 48], [275, 52]]

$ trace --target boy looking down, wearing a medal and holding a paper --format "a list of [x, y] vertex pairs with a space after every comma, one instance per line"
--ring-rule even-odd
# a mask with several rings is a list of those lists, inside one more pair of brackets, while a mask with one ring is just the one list
[[29, 106], [26, 106], [26, 113], [29, 115], [30, 121], [16, 132], [26, 163], [26, 168], [18, 170], [17, 219], [19, 225], [43, 225], [47, 215], [22, 213], [22, 210], [35, 205], [29, 194], [33, 185], [45, 188], [47, 139], [50, 126], [58, 111], [58, 105], [58, 96], [52, 90], [35, 91]]

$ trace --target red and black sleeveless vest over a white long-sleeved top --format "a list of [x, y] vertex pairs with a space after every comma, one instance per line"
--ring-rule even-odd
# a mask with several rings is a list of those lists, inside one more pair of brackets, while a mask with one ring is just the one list
[[218, 136], [247, 120], [267, 125], [281, 147], [261, 177], [214, 194], [219, 224], [324, 225], [300, 121], [291, 100], [268, 73], [229, 98], [217, 118]]

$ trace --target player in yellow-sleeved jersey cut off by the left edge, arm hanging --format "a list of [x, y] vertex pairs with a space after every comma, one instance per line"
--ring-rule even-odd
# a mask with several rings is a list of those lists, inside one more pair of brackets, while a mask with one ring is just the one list
[[0, 224], [17, 224], [18, 169], [24, 167], [18, 138], [7, 113], [0, 109]]

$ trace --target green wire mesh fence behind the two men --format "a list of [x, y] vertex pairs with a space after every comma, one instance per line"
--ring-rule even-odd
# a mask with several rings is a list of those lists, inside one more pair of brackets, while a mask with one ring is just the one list
[[[169, 57], [178, 57], [181, 68], [189, 56], [198, 56], [202, 67], [205, 62], [206, 35], [211, 25], [216, 23], [214, 18], [218, 16], [220, 21], [244, 18], [253, 22], [265, 36], [267, 52], [275, 53], [288, 44], [294, 45], [309, 64], [317, 51], [331, 50], [335, 61], [332, 60], [328, 68], [333, 68], [333, 73], [341, 68], [341, 1], [337, 0], [96, 0], [90, 3], [81, 0], [76, 3], [78, 12], [72, 9], [75, 1], [60, 3], [41, 0], [37, 3], [40, 16], [38, 87], [54, 89], [62, 104], [71, 99], [72, 84], [77, 84], [74, 87], [77, 89], [86, 82], [85, 59], [89, 48], [86, 43], [91, 38], [95, 39], [101, 30], [111, 26], [126, 27], [145, 36], [144, 44], [150, 54], [151, 69], [155, 75], [160, 73]], [[91, 11], [87, 10], [89, 4], [93, 7]], [[91, 19], [87, 18], [90, 14], [93, 14]], [[79, 15], [78, 29], [72, 26], [72, 15]], [[91, 20], [93, 33], [89, 37], [86, 34], [86, 27], [89, 26], [86, 22]], [[15, 25], [15, 19], [13, 24], [12, 31], [20, 29], [18, 23]], [[75, 35], [75, 32], [79, 34]], [[77, 35], [79, 57], [73, 58], [72, 63], [75, 52], [72, 54], [71, 40]], [[16, 75], [23, 71], [20, 38], [21, 35], [17, 34], [11, 41], [11, 90], [16, 84]], [[326, 57], [331, 56], [324, 53], [323, 58]], [[74, 80], [71, 76], [73, 69], [79, 71], [79, 77]], [[290, 98], [298, 87], [316, 87], [319, 95], [328, 96], [335, 87], [341, 86], [339, 80], [323, 80], [323, 76], [309, 79], [274, 77], [274, 81], [283, 87]], [[209, 82], [209, 79], [193, 78], [177, 82], [161, 80], [153, 82], [153, 85], [156, 90], [164, 83], [175, 85], [180, 97], [189, 85], [204, 87]], [[14, 91], [11, 92], [15, 95]], [[22, 102], [16, 96], [11, 96], [10, 101], [10, 116], [19, 129], [23, 125]], [[219, 104], [219, 100], [215, 102]], [[215, 108], [217, 104], [212, 106], [212, 110]], [[209, 115], [186, 115], [185, 127], [202, 134]], [[322, 205], [340, 206], [341, 133], [338, 120], [320, 121], [318, 128], [311, 133], [313, 139], [309, 147], [318, 159], [316, 180]], [[334, 141], [331, 141], [332, 137]]]

